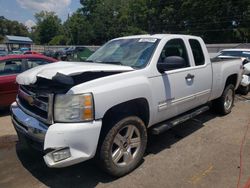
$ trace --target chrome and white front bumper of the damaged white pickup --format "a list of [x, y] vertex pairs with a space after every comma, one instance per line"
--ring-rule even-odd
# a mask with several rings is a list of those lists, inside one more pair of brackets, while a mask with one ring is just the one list
[[[20, 136], [31, 140], [43, 151], [50, 151], [44, 156], [49, 167], [66, 167], [94, 157], [102, 121], [84, 123], [55, 123], [49, 127], [23, 112], [16, 103], [11, 105], [12, 122]], [[38, 147], [39, 148], [39, 147]], [[70, 157], [55, 162], [54, 151], [62, 148], [70, 150]]]

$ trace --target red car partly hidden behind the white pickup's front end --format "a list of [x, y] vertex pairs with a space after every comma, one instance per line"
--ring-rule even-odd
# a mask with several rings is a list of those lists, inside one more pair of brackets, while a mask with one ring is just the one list
[[0, 108], [9, 106], [16, 99], [17, 74], [58, 60], [38, 54], [8, 55], [0, 57]]

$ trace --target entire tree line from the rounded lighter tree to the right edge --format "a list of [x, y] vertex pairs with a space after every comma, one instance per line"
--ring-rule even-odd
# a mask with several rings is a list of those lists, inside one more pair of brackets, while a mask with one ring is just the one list
[[201, 36], [206, 43], [250, 41], [249, 0], [80, 0], [80, 3], [82, 6], [63, 24], [55, 13], [36, 14], [32, 38], [41, 44], [100, 45], [124, 35], [177, 33]]

